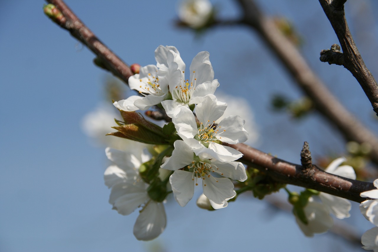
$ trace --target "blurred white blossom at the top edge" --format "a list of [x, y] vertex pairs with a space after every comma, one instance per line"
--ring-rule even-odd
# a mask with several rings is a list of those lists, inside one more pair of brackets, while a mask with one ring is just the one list
[[186, 0], [181, 2], [178, 17], [191, 28], [201, 28], [211, 17], [212, 5], [208, 0]]

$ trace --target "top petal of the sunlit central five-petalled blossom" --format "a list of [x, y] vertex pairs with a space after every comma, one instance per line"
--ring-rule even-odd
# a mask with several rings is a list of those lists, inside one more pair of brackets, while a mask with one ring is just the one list
[[223, 115], [227, 108], [227, 103], [222, 103], [217, 101], [215, 95], [206, 95], [201, 103], [195, 108], [195, 114], [198, 120], [207, 124], [216, 121], [219, 117]]

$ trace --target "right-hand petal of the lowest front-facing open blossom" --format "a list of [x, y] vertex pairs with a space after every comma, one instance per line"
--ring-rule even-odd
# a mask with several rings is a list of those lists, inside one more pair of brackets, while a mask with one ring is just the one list
[[220, 162], [218, 160], [215, 160], [211, 162], [211, 166], [213, 165], [217, 167], [217, 169], [215, 169], [215, 172], [222, 175], [223, 177], [229, 177], [230, 179], [239, 180], [241, 182], [247, 179], [245, 167], [240, 162]]

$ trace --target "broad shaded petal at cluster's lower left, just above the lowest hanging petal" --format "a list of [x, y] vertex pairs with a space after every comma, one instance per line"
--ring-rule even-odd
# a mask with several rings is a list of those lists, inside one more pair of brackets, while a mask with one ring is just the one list
[[112, 187], [109, 203], [121, 215], [129, 215], [149, 199], [146, 188], [132, 183], [116, 184]]

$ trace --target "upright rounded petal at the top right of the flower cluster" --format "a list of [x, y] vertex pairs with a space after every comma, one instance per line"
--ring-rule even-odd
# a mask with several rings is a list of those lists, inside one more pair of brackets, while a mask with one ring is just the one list
[[214, 79], [214, 70], [211, 66], [209, 55], [208, 51], [201, 51], [193, 58], [189, 67], [190, 80], [192, 82], [194, 82], [194, 78], [199, 84]]

